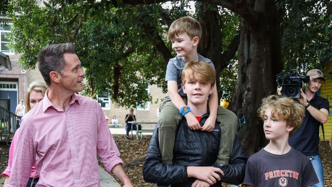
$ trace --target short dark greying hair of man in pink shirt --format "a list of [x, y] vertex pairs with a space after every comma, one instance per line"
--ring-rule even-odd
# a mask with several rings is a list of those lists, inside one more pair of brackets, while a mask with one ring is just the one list
[[47, 86], [51, 85], [51, 71], [63, 74], [66, 63], [63, 56], [64, 53], [76, 54], [74, 46], [70, 43], [52, 44], [39, 51], [37, 66]]

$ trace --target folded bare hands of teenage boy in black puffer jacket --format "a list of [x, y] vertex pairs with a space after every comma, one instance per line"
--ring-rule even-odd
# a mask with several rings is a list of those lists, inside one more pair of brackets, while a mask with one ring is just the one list
[[203, 180], [211, 185], [220, 180], [220, 176], [217, 174], [217, 172], [221, 175], [224, 175], [224, 172], [220, 168], [196, 166], [187, 167], [188, 177], [194, 177], [196, 179]]

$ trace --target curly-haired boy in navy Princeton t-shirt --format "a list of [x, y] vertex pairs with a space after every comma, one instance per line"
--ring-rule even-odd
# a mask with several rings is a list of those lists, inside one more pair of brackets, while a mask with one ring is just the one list
[[319, 183], [311, 161], [289, 144], [301, 126], [304, 107], [289, 97], [263, 98], [258, 115], [269, 144], [247, 162], [243, 184], [251, 186], [311, 186]]

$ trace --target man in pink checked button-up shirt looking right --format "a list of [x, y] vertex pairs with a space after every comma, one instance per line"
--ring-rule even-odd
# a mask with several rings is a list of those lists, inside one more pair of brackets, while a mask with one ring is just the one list
[[132, 187], [97, 101], [76, 94], [85, 72], [72, 44], [39, 52], [38, 69], [49, 86], [44, 99], [21, 120], [9, 184], [26, 186], [31, 167], [36, 186], [100, 186], [98, 159], [125, 187]]

